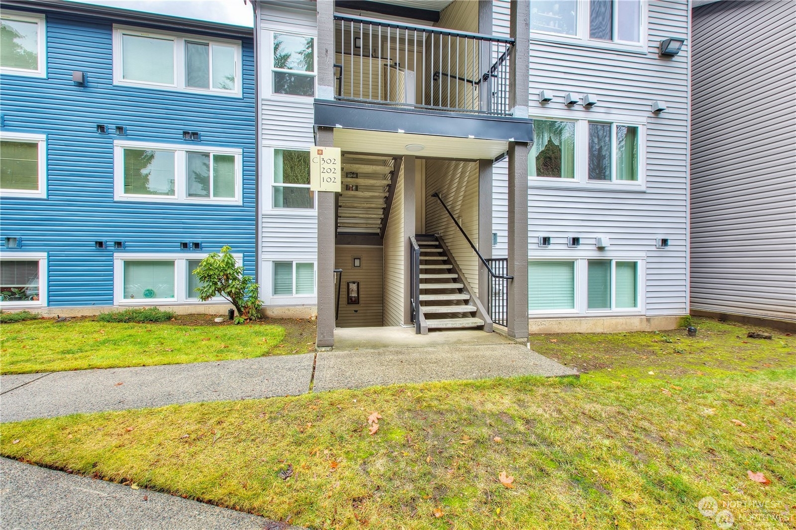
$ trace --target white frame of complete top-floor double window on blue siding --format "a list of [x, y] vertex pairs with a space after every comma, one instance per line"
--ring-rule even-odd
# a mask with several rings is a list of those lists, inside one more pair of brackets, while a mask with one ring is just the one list
[[[132, 35], [135, 37], [150, 37], [168, 39], [174, 42], [174, 83], [150, 83], [146, 81], [125, 80], [122, 76], [122, 35]], [[196, 88], [186, 86], [185, 76], [185, 42], [207, 44], [211, 47], [209, 56], [209, 67], [212, 80], [213, 69], [213, 45], [229, 46], [235, 49], [235, 90], [222, 90], [220, 88]], [[138, 88], [159, 88], [162, 90], [172, 90], [178, 92], [192, 92], [194, 94], [224, 95], [227, 97], [242, 97], [243, 95], [243, 68], [242, 68], [242, 45], [241, 41], [221, 39], [217, 37], [209, 38], [200, 35], [190, 35], [187, 33], [174, 33], [170, 31], [154, 31], [144, 28], [136, 28], [127, 25], [113, 26], [113, 84], [138, 87]]]

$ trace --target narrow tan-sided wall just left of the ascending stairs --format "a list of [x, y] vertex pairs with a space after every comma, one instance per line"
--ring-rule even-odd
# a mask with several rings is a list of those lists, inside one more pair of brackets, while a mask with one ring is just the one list
[[404, 323], [404, 165], [384, 231], [384, 325]]

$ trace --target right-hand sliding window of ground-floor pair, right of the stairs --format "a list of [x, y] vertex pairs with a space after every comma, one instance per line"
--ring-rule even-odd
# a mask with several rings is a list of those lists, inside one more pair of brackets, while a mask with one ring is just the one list
[[588, 260], [588, 310], [638, 307], [638, 262]]

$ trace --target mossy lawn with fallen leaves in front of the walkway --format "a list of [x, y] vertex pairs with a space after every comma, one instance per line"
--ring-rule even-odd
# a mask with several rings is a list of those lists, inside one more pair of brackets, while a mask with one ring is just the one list
[[660, 333], [621, 334], [604, 362], [616, 336], [548, 335], [605, 366], [29, 420], [2, 424], [0, 453], [310, 528], [715, 529], [708, 496], [733, 528], [793, 528], [796, 340], [724, 351], [745, 334], [700, 322], [686, 368]]

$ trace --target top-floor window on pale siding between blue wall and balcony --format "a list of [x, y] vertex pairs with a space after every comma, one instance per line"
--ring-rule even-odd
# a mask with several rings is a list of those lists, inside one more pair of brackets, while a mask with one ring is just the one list
[[315, 40], [313, 37], [274, 33], [274, 94], [315, 95]]

